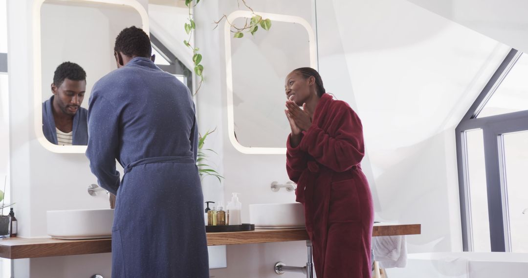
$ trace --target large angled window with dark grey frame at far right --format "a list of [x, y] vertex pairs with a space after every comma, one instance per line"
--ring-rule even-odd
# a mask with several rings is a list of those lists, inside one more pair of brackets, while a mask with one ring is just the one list
[[528, 252], [526, 75], [512, 49], [456, 128], [464, 251]]

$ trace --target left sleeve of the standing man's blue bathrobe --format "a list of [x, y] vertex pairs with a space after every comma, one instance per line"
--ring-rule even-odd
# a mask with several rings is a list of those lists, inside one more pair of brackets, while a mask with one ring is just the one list
[[119, 155], [119, 117], [117, 110], [103, 96], [95, 92], [88, 104], [88, 148], [90, 170], [97, 177], [99, 186], [117, 195], [119, 172], [116, 158]]

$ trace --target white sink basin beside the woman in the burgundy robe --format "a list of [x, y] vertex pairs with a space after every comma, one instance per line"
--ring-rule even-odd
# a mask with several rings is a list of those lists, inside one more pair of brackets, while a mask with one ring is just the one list
[[303, 204], [252, 204], [249, 221], [260, 229], [304, 228]]

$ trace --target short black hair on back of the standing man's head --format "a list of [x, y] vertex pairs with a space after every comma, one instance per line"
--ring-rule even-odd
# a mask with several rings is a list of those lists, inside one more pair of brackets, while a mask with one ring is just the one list
[[152, 54], [152, 46], [150, 46], [150, 39], [143, 29], [136, 26], [122, 29], [116, 37], [115, 52], [122, 52], [127, 56], [139, 56], [150, 58]]

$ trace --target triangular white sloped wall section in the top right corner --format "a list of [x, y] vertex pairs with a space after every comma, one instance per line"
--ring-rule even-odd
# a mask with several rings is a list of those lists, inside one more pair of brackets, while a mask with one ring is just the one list
[[407, 0], [522, 52], [528, 52], [528, 2]]

